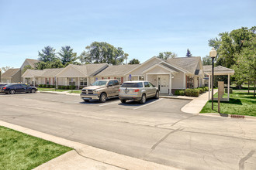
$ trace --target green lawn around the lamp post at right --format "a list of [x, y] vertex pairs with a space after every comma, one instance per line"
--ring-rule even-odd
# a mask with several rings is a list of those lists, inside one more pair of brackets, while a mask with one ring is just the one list
[[[216, 93], [214, 97], [218, 97]], [[227, 97], [227, 93], [223, 96]], [[209, 100], [206, 105], [202, 108], [200, 113], [217, 113], [218, 112], [218, 102], [213, 102]], [[220, 113], [221, 114], [240, 114], [256, 116], [256, 98], [253, 93], [248, 94], [247, 92], [237, 92], [230, 93], [230, 101], [220, 102]]]

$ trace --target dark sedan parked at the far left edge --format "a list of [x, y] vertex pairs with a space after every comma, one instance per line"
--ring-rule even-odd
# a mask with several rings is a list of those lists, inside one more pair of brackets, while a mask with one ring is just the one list
[[37, 91], [36, 87], [30, 87], [24, 83], [11, 83], [2, 87], [2, 93], [35, 93]]

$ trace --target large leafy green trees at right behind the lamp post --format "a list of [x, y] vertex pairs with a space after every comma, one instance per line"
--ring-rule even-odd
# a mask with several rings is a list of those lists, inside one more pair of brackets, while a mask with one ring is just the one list
[[[256, 26], [248, 29], [241, 27], [231, 32], [221, 32], [218, 37], [209, 39], [209, 46], [217, 51], [215, 66], [225, 66], [234, 69], [232, 79], [240, 88], [243, 83], [256, 83]], [[203, 65], [212, 64], [209, 56], [202, 58]], [[224, 76], [218, 76], [217, 80], [225, 80]]]

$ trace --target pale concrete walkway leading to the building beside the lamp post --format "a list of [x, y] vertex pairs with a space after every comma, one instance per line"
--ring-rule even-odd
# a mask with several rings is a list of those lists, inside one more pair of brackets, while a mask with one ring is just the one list
[[[217, 93], [218, 90], [214, 89], [213, 93]], [[206, 105], [206, 102], [208, 101], [208, 93], [203, 93], [199, 97], [195, 97], [189, 104], [186, 104], [184, 107], [182, 107], [182, 111], [189, 114], [199, 114], [199, 112], [202, 110], [202, 107]]]

